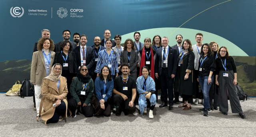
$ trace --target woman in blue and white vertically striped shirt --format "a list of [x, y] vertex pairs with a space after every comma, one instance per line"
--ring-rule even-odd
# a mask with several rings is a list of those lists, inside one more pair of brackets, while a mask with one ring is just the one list
[[118, 76], [118, 58], [116, 51], [114, 51], [112, 48], [112, 41], [111, 39], [106, 40], [106, 49], [100, 51], [98, 62], [96, 65], [96, 69], [94, 72], [98, 73], [97, 76], [99, 76], [100, 70], [103, 66], [108, 66], [111, 70], [111, 76], [113, 80]]

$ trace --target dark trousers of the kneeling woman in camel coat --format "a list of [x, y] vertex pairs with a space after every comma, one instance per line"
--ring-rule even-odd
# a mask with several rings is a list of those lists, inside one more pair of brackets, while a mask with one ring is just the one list
[[61, 101], [60, 106], [55, 108], [55, 112], [52, 118], [49, 119], [50, 123], [57, 123], [59, 121], [59, 117], [66, 111], [66, 103]]

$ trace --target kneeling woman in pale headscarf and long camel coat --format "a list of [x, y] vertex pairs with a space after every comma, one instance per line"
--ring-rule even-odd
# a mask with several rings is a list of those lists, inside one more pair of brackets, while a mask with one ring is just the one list
[[41, 86], [43, 97], [40, 103], [39, 116], [41, 116], [45, 125], [47, 121], [57, 123], [60, 116], [66, 121], [68, 109], [66, 96], [68, 94], [68, 88], [67, 79], [61, 76], [61, 72], [61, 65], [56, 63], [52, 67], [49, 76], [43, 79]]

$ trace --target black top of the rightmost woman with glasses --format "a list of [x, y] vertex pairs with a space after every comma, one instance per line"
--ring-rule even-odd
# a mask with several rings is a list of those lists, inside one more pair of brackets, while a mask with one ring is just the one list
[[[216, 59], [216, 74], [219, 74], [220, 70], [225, 71], [221, 60], [222, 60], [223, 64], [225, 64], [225, 57], [221, 57], [221, 59]], [[230, 56], [229, 59], [226, 59], [226, 68], [228, 68], [227, 71], [233, 70], [233, 72], [236, 73], [236, 63], [235, 63], [233, 57]]]

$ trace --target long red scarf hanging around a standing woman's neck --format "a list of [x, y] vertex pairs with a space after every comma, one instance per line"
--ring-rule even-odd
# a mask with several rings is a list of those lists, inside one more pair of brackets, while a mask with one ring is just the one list
[[[150, 48], [150, 53], [151, 53], [151, 72], [150, 72], [150, 77], [155, 80], [155, 71], [154, 71], [154, 53], [152, 48]], [[141, 68], [145, 66], [145, 47], [142, 49], [142, 55], [141, 55], [141, 60], [140, 60], [140, 76], [142, 75]]]

